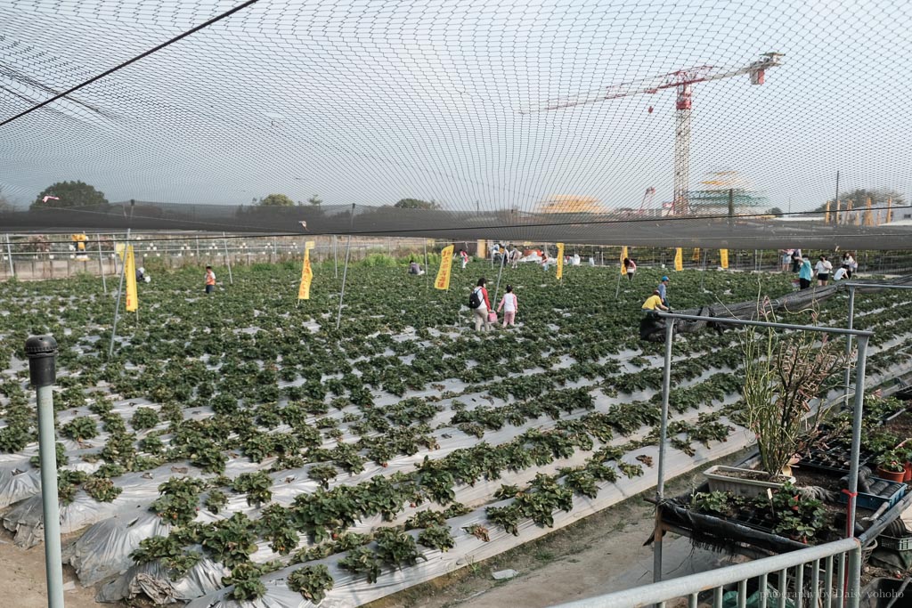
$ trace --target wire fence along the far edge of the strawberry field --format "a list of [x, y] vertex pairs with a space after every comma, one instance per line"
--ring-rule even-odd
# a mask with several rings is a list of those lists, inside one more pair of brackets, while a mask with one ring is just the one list
[[[78, 274], [116, 274], [118, 243], [133, 245], [137, 265], [150, 272], [180, 269], [186, 266], [204, 267], [284, 263], [302, 259], [309, 244], [314, 263], [333, 261], [344, 263], [347, 236], [318, 236], [311, 238], [287, 236], [252, 236], [247, 234], [212, 234], [161, 232], [136, 234], [128, 239], [126, 233], [86, 235], [86, 240], [73, 240], [68, 235], [6, 234], [0, 242], [2, 261], [0, 280], [16, 276], [19, 280], [61, 279]], [[464, 248], [476, 258], [494, 264], [489, 252], [493, 241], [451, 242], [440, 239], [353, 237], [350, 259], [358, 263], [369, 255], [386, 255], [408, 263], [415, 260], [424, 265], [425, 253], [436, 261], [440, 250], [453, 244], [457, 251]], [[503, 242], [521, 252], [547, 251], [556, 254], [554, 242]], [[481, 253], [481, 256], [480, 256]], [[720, 250], [682, 248], [686, 269], [715, 270], [720, 268]], [[791, 263], [783, 263], [782, 250], [729, 250], [729, 268], [736, 271], [791, 272]], [[912, 251], [858, 251], [855, 259], [858, 273], [890, 274], [912, 271]], [[812, 260], [820, 254], [830, 256], [838, 265], [840, 252], [806, 251]], [[621, 248], [592, 244], [565, 244], [567, 263], [574, 256], [586, 266], [619, 267]], [[633, 247], [628, 255], [640, 268], [673, 269], [676, 251], [666, 247]], [[433, 267], [431, 268], [433, 270]]]

